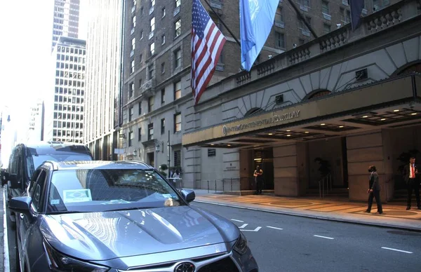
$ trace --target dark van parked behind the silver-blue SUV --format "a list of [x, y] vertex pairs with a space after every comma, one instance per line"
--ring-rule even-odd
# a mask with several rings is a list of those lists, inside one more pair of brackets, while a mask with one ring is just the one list
[[[6, 200], [22, 196], [35, 169], [44, 161], [92, 160], [91, 151], [83, 144], [65, 142], [18, 144], [12, 151], [7, 171], [4, 176], [2, 175], [2, 182], [7, 183]], [[10, 217], [11, 222], [15, 222], [14, 212], [10, 213]]]

